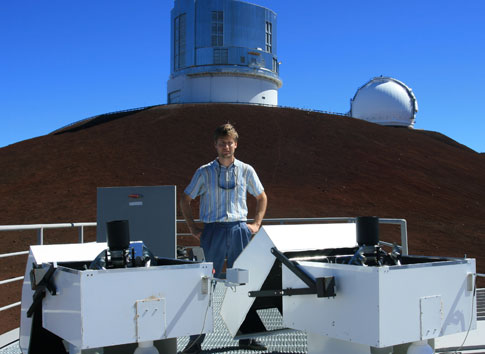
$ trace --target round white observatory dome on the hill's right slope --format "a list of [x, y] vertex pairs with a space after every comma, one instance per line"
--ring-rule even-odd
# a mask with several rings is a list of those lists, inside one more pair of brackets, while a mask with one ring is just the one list
[[375, 77], [350, 101], [350, 115], [372, 123], [412, 128], [418, 102], [413, 91], [391, 77]]

